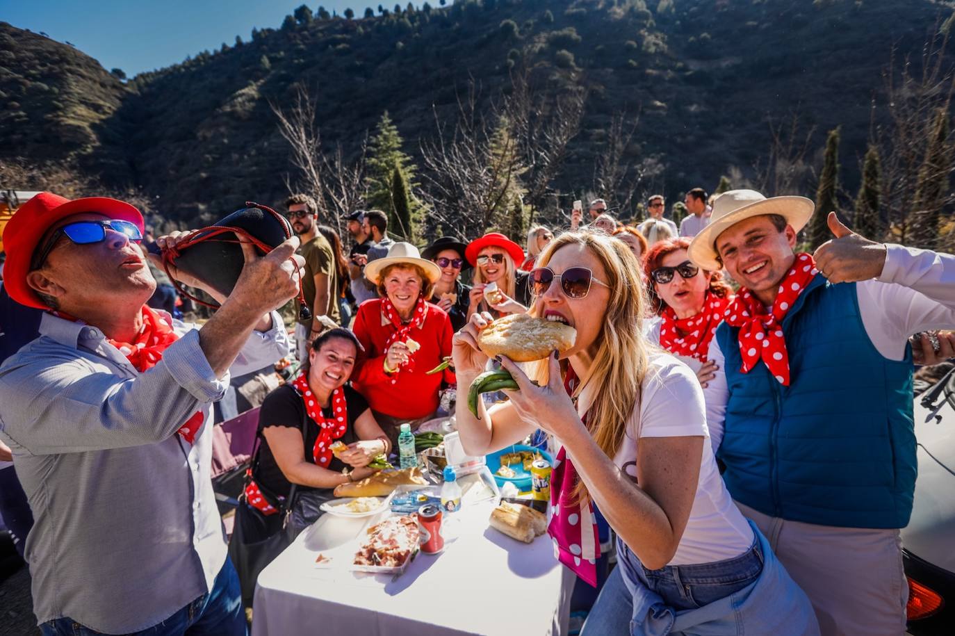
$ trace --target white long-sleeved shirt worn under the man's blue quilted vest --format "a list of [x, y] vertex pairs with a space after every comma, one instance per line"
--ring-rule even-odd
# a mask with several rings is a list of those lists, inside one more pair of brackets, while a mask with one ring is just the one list
[[[889, 244], [879, 278], [856, 285], [862, 326], [882, 356], [902, 360], [909, 336], [955, 328], [955, 256]], [[713, 452], [723, 440], [730, 391], [726, 357], [713, 338], [708, 358], [719, 370], [703, 390]]]

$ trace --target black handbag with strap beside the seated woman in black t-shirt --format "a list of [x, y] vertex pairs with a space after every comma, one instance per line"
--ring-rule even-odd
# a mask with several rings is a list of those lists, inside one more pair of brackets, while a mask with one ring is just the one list
[[[305, 438], [308, 413], [302, 418], [302, 437]], [[245, 478], [245, 485], [249, 479], [254, 479], [259, 469], [260, 449], [262, 448], [262, 431], [255, 434], [255, 449], [252, 452], [252, 467], [249, 477]], [[229, 540], [229, 557], [239, 574], [239, 583], [242, 586], [242, 599], [246, 607], [252, 606], [252, 597], [255, 595], [255, 583], [265, 566], [274, 561], [283, 550], [288, 547], [301, 528], [295, 531], [289, 523], [292, 508], [298, 499], [299, 493], [296, 484], [292, 484], [288, 497], [279, 498], [265, 490], [259, 484], [259, 490], [265, 498], [275, 506], [277, 515], [263, 515], [261, 512], [245, 502], [245, 489], [239, 498], [236, 508], [235, 524], [232, 529], [232, 538]]]

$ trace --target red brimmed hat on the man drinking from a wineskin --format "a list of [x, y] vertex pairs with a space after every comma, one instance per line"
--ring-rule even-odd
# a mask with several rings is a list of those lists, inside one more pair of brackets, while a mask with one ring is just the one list
[[125, 201], [106, 197], [87, 197], [70, 201], [52, 192], [41, 192], [21, 205], [3, 230], [3, 246], [7, 262], [3, 267], [3, 286], [10, 297], [21, 305], [48, 309], [27, 285], [27, 274], [33, 252], [54, 224], [75, 214], [96, 212], [110, 219], [136, 223], [142, 232], [142, 215]]

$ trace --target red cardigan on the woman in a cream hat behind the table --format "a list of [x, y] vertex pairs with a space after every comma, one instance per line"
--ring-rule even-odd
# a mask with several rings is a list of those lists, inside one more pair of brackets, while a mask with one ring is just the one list
[[[385, 373], [385, 342], [396, 329], [381, 313], [381, 299], [372, 298], [358, 307], [352, 327], [365, 352], [358, 357], [351, 374], [352, 386], [368, 399], [373, 411], [401, 419], [417, 419], [435, 413], [441, 380], [455, 384], [455, 373], [425, 375], [451, 355], [451, 319], [436, 305], [428, 304], [423, 329], [412, 329], [410, 337], [421, 349], [414, 351], [414, 369], [402, 367]], [[392, 382], [394, 380], [394, 383]]]

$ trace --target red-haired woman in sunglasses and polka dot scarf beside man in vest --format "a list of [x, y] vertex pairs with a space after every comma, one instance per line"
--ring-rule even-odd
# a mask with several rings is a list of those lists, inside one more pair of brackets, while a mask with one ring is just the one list
[[694, 265], [688, 247], [689, 239], [671, 239], [647, 252], [650, 309], [658, 316], [647, 321], [647, 339], [689, 365], [705, 388], [716, 371], [707, 350], [732, 300], [732, 287], [720, 272]]

